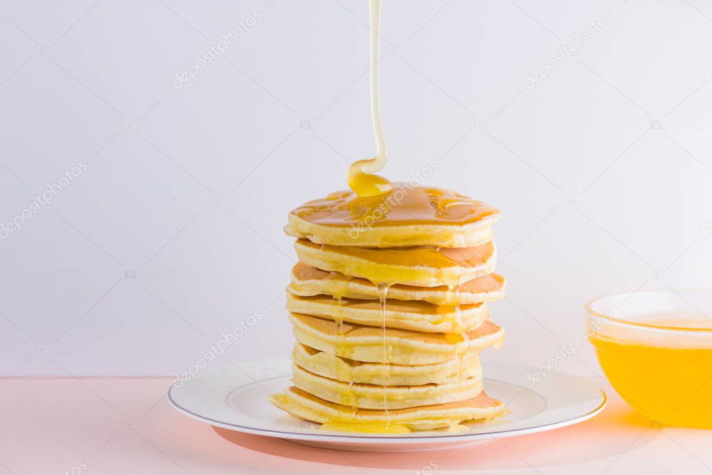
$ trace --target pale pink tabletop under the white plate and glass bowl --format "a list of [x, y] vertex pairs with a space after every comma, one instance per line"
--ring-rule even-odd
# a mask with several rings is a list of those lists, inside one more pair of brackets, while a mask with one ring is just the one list
[[167, 377], [17, 378], [0, 384], [5, 474], [712, 473], [712, 431], [658, 429], [604, 382], [594, 419], [468, 449], [365, 454], [214, 429], [169, 407]]

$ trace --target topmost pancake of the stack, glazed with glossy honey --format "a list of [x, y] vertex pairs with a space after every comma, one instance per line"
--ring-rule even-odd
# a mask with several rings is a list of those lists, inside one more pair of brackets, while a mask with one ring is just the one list
[[446, 189], [395, 183], [391, 192], [358, 197], [347, 190], [293, 209], [290, 236], [332, 246], [473, 247], [492, 240], [496, 208]]

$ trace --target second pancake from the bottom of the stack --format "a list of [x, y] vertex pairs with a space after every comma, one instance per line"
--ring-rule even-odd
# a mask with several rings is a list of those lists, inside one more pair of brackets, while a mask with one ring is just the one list
[[[482, 392], [482, 378], [469, 377], [446, 385], [364, 385], [330, 380], [292, 364], [292, 382], [320, 399], [360, 409], [406, 409], [471, 399]], [[384, 402], [384, 398], [386, 402]]]

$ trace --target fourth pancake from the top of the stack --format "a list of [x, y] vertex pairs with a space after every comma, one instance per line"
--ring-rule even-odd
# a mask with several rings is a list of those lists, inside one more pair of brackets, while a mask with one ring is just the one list
[[427, 333], [462, 333], [477, 328], [489, 318], [486, 303], [459, 307], [436, 306], [419, 301], [386, 301], [385, 311], [379, 301], [332, 296], [300, 297], [287, 293], [287, 310], [322, 318], [381, 327], [383, 318], [388, 328], [401, 328]]

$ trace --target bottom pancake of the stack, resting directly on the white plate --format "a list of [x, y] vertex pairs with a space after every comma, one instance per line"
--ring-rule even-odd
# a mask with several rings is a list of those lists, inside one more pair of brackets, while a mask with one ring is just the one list
[[377, 409], [352, 409], [352, 407], [328, 402], [308, 392], [289, 387], [270, 396], [270, 402], [279, 409], [299, 419], [319, 422], [342, 422], [344, 424], [399, 424], [411, 430], [431, 430], [452, 427], [466, 421], [493, 419], [504, 412], [504, 404], [485, 392], [477, 397], [459, 402], [447, 402], [409, 409], [389, 409], [388, 416]]

